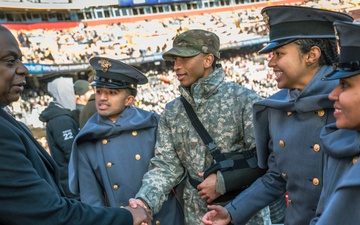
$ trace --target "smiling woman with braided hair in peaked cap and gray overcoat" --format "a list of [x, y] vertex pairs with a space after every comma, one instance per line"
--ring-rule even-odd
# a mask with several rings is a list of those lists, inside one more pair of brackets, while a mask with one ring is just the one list
[[270, 28], [270, 43], [259, 53], [272, 52], [269, 67], [282, 89], [253, 106], [259, 166], [268, 170], [226, 209], [209, 207], [217, 213], [206, 214], [205, 224], [245, 224], [285, 192], [285, 224], [309, 224], [315, 216], [323, 185], [320, 131], [335, 121], [327, 95], [337, 84], [321, 78], [333, 71], [338, 58], [333, 22], [353, 19], [300, 6], [266, 7], [262, 15]]

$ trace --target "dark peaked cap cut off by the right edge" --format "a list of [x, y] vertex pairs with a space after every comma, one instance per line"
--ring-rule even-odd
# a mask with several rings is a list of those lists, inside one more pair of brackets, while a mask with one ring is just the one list
[[334, 22], [340, 48], [339, 62], [335, 70], [323, 80], [335, 80], [360, 74], [360, 24]]

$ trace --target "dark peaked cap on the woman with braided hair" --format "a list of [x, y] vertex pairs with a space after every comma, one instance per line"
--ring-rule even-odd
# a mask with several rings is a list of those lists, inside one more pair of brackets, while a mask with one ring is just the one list
[[258, 53], [272, 50], [303, 38], [335, 38], [333, 22], [349, 21], [347, 14], [303, 6], [269, 6], [261, 14], [270, 31], [270, 43]]

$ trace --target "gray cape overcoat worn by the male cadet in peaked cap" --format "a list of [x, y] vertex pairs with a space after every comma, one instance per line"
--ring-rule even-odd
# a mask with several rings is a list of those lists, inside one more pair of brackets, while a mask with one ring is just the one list
[[[90, 205], [129, 205], [154, 155], [158, 120], [158, 114], [134, 106], [115, 123], [95, 113], [74, 141], [70, 190]], [[153, 224], [159, 222], [183, 225], [181, 205], [173, 193], [154, 216]]]

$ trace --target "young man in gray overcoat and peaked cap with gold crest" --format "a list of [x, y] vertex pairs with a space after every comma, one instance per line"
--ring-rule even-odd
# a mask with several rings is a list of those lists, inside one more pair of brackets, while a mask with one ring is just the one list
[[[147, 78], [137, 69], [104, 57], [90, 59], [96, 71], [95, 113], [80, 130], [70, 161], [70, 189], [93, 206], [128, 205], [154, 156], [159, 115], [133, 106], [137, 85]], [[173, 192], [153, 224], [183, 225]]]

